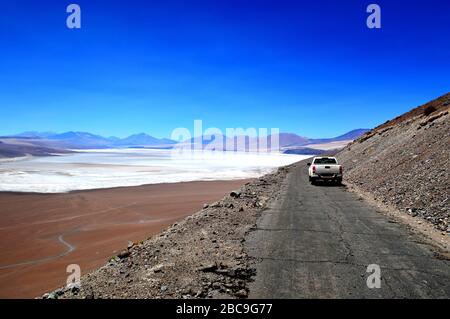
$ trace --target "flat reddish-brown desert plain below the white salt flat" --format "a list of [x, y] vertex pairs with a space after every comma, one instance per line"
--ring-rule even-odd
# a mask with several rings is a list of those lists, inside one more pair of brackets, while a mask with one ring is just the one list
[[34, 298], [61, 287], [68, 265], [86, 274], [130, 241], [158, 234], [246, 182], [0, 193], [0, 298]]

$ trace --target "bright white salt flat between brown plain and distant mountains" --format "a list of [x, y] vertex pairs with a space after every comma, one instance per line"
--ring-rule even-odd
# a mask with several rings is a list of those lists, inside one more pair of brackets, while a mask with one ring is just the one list
[[280, 153], [83, 150], [0, 163], [0, 191], [74, 190], [255, 178], [308, 156]]

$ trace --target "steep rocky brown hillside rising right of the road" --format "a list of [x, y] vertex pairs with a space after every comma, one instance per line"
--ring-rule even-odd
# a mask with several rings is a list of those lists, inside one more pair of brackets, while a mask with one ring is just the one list
[[450, 93], [376, 127], [337, 156], [349, 184], [450, 232]]

